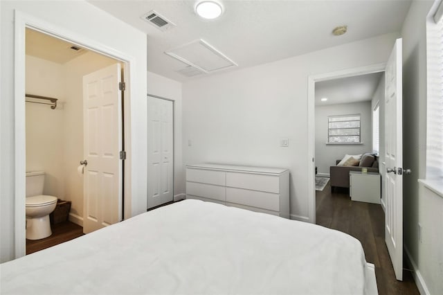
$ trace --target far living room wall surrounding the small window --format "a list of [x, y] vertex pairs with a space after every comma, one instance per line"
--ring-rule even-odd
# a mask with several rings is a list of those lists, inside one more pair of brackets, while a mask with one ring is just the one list
[[[361, 145], [327, 145], [328, 116], [360, 114]], [[339, 105], [316, 105], [316, 166], [320, 175], [329, 175], [329, 167], [345, 154], [372, 152], [371, 102], [353, 102]]]

